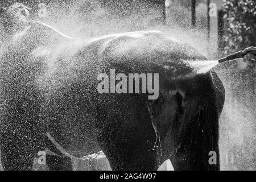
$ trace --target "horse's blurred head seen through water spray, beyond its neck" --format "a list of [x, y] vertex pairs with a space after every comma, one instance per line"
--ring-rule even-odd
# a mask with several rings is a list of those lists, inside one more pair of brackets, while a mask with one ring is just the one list
[[22, 3], [0, 8], [0, 24], [5, 36], [13, 36], [27, 26], [30, 8]]

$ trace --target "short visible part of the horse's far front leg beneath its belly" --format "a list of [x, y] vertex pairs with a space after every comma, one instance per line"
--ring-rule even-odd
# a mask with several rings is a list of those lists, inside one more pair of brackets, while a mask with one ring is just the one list
[[46, 155], [49, 171], [72, 171], [71, 158], [67, 156]]

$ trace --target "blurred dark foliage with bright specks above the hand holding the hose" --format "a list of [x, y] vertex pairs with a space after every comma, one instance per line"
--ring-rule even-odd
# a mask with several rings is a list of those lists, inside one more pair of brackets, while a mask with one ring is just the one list
[[256, 1], [224, 0], [225, 53], [256, 46]]

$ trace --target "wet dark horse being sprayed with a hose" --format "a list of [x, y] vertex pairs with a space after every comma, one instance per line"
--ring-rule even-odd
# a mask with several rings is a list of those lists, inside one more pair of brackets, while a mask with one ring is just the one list
[[[113, 170], [155, 170], [166, 159], [176, 170], [220, 168], [224, 87], [213, 70], [189, 64], [206, 60], [196, 49], [159, 31], [69, 38], [14, 6], [5, 17], [18, 28], [0, 63], [4, 169], [30, 170], [35, 154], [52, 148], [47, 133], [73, 156], [104, 151]], [[159, 97], [98, 93], [97, 76], [110, 69], [158, 73]], [[68, 157], [47, 159], [50, 169], [63, 160], [70, 169]]]

